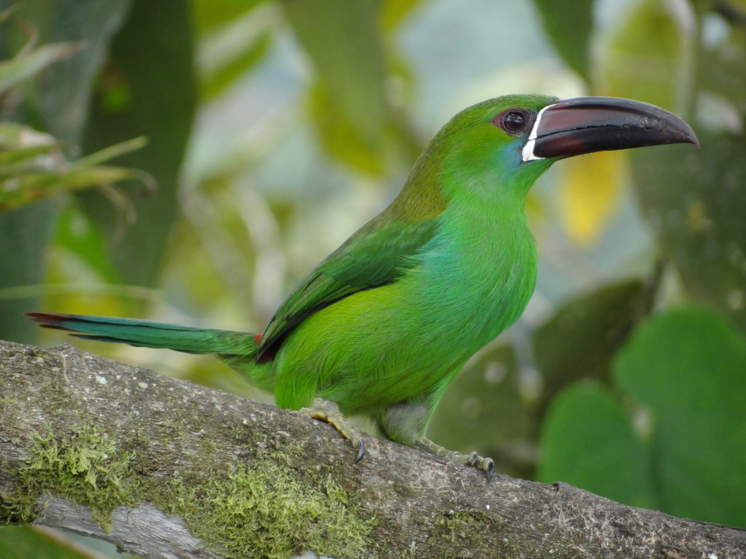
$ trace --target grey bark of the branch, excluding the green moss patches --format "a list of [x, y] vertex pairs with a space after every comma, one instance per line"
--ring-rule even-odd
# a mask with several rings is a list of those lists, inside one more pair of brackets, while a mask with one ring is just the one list
[[[360, 557], [746, 558], [744, 530], [620, 505], [561, 482], [496, 474], [488, 483], [479, 470], [368, 435], [365, 458], [353, 464], [355, 449], [325, 423], [69, 345], [0, 342], [0, 398], [0, 509], [34, 455], [34, 432], [63, 440], [97, 426], [134, 451], [128, 475], [152, 488], [145, 496], [175, 476], [207, 491], [236, 464], [259, 459], [252, 444], [280, 452], [301, 484], [313, 483], [314, 472], [330, 476], [355, 522], [374, 519]], [[116, 508], [110, 531], [63, 496], [40, 502], [38, 525], [101, 537], [143, 558], [231, 555], [214, 539], [205, 547], [195, 521], [165, 514], [163, 502]]]

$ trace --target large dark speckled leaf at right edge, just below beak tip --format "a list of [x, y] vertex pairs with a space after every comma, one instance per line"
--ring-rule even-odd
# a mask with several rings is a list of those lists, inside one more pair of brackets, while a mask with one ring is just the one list
[[689, 294], [746, 329], [746, 139], [697, 133], [634, 154], [638, 198]]

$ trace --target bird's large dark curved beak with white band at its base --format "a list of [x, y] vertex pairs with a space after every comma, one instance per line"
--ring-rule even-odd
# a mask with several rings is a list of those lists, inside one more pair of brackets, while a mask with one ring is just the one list
[[694, 144], [689, 124], [655, 105], [615, 97], [577, 97], [539, 111], [523, 160], [571, 157], [647, 145]]

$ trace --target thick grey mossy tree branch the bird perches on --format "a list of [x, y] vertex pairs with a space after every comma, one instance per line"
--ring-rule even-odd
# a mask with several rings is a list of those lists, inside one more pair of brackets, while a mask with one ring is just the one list
[[[452, 464], [69, 345], [0, 342], [0, 521], [144, 558], [746, 558], [746, 531]], [[457, 418], [454, 418], [457, 420]]]

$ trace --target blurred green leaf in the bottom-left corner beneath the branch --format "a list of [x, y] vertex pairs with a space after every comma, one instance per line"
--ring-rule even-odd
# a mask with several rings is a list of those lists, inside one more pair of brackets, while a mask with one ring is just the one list
[[6, 559], [94, 559], [83, 546], [60, 534], [50, 534], [31, 526], [0, 528], [0, 558]]

